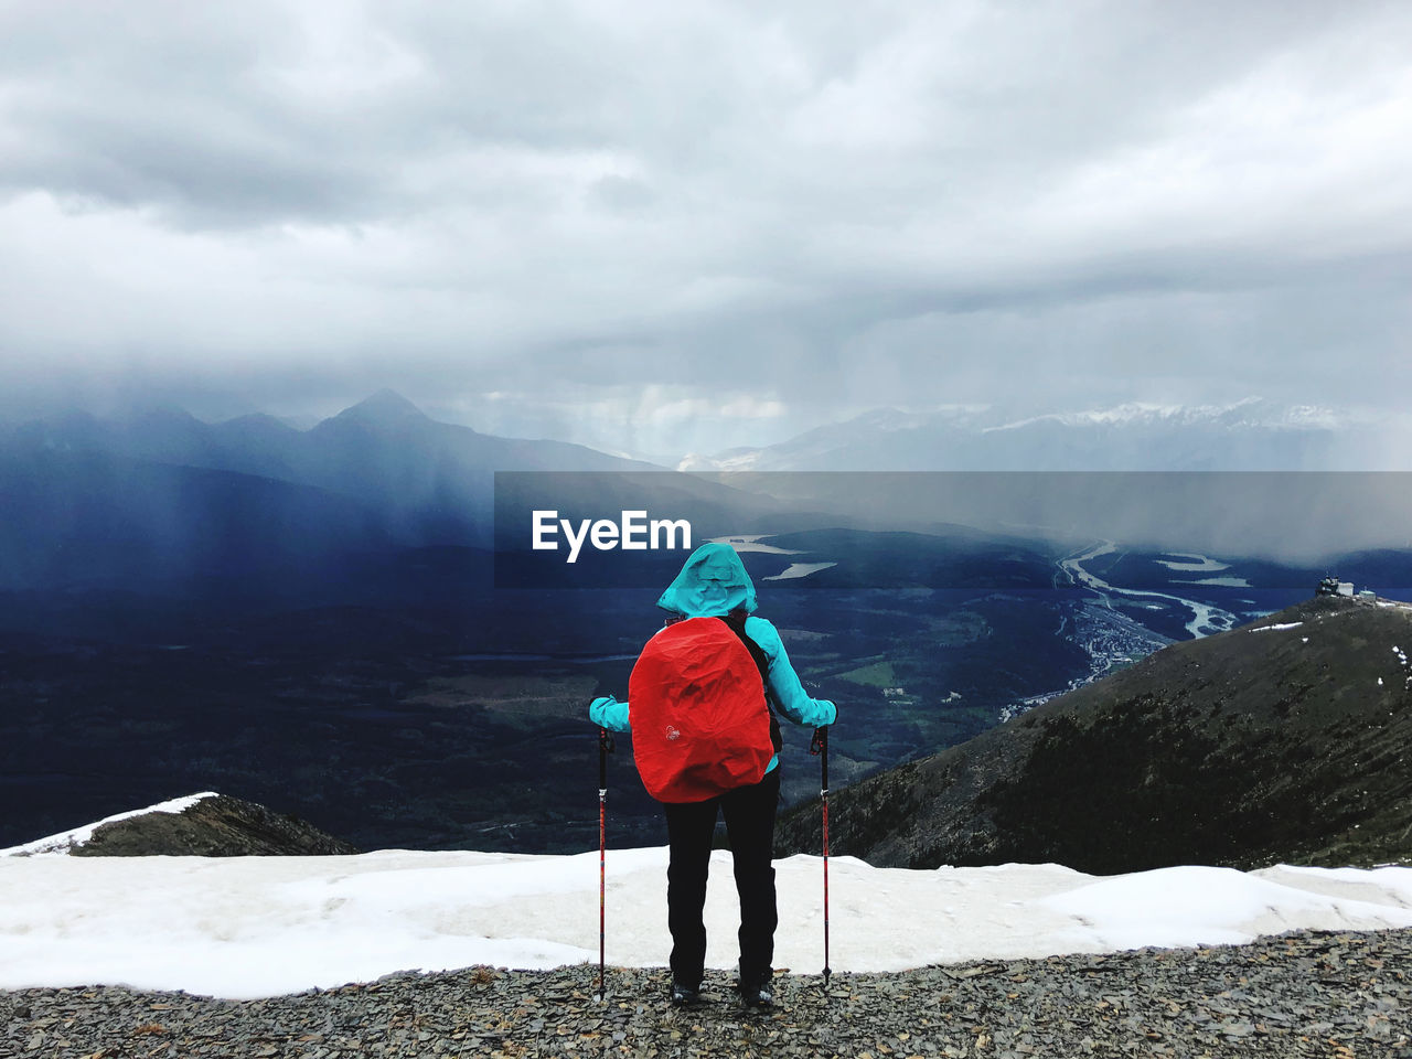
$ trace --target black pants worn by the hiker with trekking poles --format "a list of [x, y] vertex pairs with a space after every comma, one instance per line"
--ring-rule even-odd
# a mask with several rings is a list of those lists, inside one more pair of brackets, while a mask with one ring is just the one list
[[705, 802], [664, 805], [672, 856], [666, 867], [666, 923], [672, 932], [672, 977], [683, 986], [700, 986], [706, 963], [706, 873], [717, 810], [726, 818], [726, 834], [736, 863], [740, 894], [740, 979], [760, 986], [774, 973], [775, 957], [775, 806], [779, 803], [779, 767], [751, 786]]

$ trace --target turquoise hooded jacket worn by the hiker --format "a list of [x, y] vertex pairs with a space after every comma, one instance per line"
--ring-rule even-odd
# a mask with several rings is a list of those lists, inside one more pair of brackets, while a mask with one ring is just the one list
[[[751, 616], [746, 618], [746, 635], [760, 644], [770, 662], [770, 690], [777, 710], [795, 724], [810, 727], [833, 724], [837, 719], [839, 710], [832, 702], [809, 698], [805, 692], [775, 627], [765, 618], [754, 617], [755, 586], [729, 544], [703, 544], [692, 552], [682, 572], [657, 599], [657, 606], [681, 617], [726, 617], [733, 610], [744, 610]], [[627, 731], [631, 709], [628, 703], [604, 695], [589, 706], [589, 719], [613, 731]], [[778, 764], [777, 754], [765, 771]]]

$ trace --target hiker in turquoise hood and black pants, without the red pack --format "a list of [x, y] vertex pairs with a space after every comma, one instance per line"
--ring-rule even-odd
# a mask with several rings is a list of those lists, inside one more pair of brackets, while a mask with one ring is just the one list
[[[779, 736], [775, 714], [795, 724], [823, 727], [837, 719], [827, 699], [805, 692], [789, 664], [779, 633], [765, 618], [755, 617], [755, 587], [736, 549], [727, 544], [705, 544], [686, 559], [681, 573], [658, 597], [668, 611], [668, 626], [695, 617], [719, 617], [750, 648], [774, 705], [770, 727], [774, 755], [764, 778], [723, 794], [690, 802], [662, 802], [666, 816], [669, 863], [666, 868], [668, 928], [672, 935], [674, 1004], [690, 1004], [699, 997], [706, 960], [706, 878], [712, 836], [717, 816], [726, 820], [740, 897], [740, 963], [737, 988], [748, 1007], [774, 1004], [774, 945], [778, 909], [775, 902], [774, 834], [779, 803]], [[589, 719], [613, 731], [631, 729], [630, 703], [611, 695], [594, 699]]]

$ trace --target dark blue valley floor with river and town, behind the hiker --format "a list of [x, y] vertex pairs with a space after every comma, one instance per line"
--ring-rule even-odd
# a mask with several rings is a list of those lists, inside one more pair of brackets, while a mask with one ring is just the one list
[[[1187, 637], [1187, 594], [1231, 593], [1178, 594], [1151, 579], [1130, 592], [1124, 578], [1139, 569], [1186, 576], [1159, 555], [1087, 548], [1021, 559], [1010, 548], [966, 558], [916, 545], [911, 535], [809, 531], [762, 537], [744, 554], [760, 613], [781, 630], [810, 693], [842, 707], [836, 786], [963, 743]], [[836, 556], [829, 569], [767, 580], [823, 555]], [[898, 586], [926, 580], [943, 559], [940, 587]], [[412, 554], [408, 570], [429, 565], [419, 579], [387, 570], [371, 590], [387, 599], [384, 586], [400, 585], [405, 597], [418, 585], [459, 583], [439, 573], [446, 561]], [[957, 587], [963, 579], [973, 587]], [[1308, 594], [1241, 590], [1245, 602], [1221, 610], [1247, 618], [1281, 596]], [[203, 620], [124, 599], [131, 635], [116, 641], [64, 635], [59, 616], [69, 611], [10, 596], [4, 613], [24, 606], [41, 627], [48, 613], [56, 630], [0, 634], [0, 844], [219, 789], [363, 849], [593, 846], [597, 762], [586, 706], [626, 692], [659, 620], [655, 593], [501, 592], [459, 607], [446, 593], [424, 599], [439, 609], [411, 599], [378, 609], [370, 594], [359, 606]], [[792, 803], [816, 794], [818, 762], [808, 731], [785, 738]], [[614, 842], [664, 840], [630, 738], [610, 777]]]

